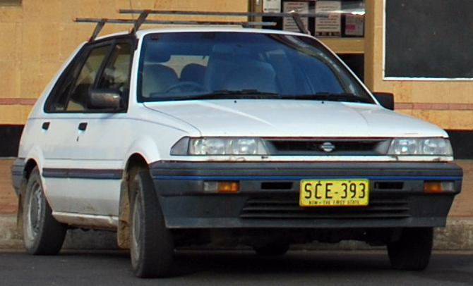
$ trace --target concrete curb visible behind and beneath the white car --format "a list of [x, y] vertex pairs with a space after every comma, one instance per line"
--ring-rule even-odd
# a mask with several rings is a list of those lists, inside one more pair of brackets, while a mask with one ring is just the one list
[[[118, 249], [114, 232], [68, 230], [64, 249]], [[297, 249], [376, 249], [364, 242], [344, 241], [338, 244], [313, 243], [294, 246]], [[23, 239], [16, 230], [16, 215], [0, 215], [0, 249], [23, 249]], [[472, 251], [473, 218], [448, 218], [445, 228], [436, 228], [433, 250]]]

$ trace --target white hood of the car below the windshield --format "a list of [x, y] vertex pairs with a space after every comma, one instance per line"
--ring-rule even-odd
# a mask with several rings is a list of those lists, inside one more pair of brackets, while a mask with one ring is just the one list
[[184, 121], [200, 136], [447, 137], [436, 125], [376, 104], [304, 100], [210, 100], [145, 103]]

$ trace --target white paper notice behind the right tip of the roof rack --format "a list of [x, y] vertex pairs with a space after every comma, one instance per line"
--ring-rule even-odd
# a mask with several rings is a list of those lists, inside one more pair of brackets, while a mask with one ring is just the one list
[[342, 35], [342, 2], [317, 1], [316, 13], [328, 13], [328, 18], [316, 18], [316, 36], [341, 37]]

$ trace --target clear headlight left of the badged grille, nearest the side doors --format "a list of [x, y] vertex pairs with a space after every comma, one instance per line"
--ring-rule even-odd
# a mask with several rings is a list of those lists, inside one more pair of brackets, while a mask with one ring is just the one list
[[260, 138], [200, 137], [181, 138], [171, 149], [171, 155], [251, 156], [266, 155], [268, 151]]

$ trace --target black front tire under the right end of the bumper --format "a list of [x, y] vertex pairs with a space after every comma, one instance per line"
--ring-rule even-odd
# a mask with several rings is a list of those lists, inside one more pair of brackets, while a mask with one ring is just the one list
[[388, 243], [391, 266], [397, 270], [422, 271], [432, 252], [433, 228], [404, 228], [400, 240]]

